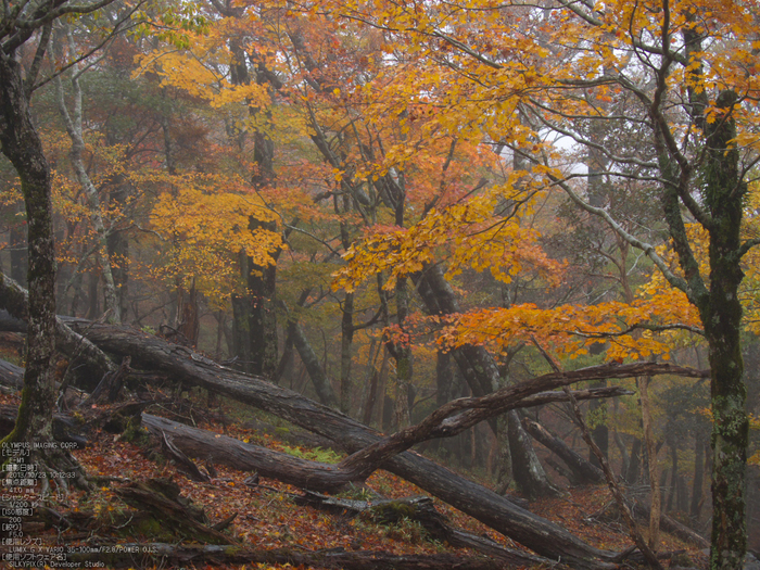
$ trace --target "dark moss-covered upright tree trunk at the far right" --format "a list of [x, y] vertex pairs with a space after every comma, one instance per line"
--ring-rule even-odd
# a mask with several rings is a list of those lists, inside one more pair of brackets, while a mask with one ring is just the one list
[[715, 102], [720, 113], [706, 126], [707, 162], [705, 200], [712, 214], [710, 235], [709, 299], [698, 304], [709, 346], [712, 401], [712, 548], [714, 569], [744, 563], [747, 549], [745, 469], [749, 420], [745, 402], [742, 355], [739, 266], [742, 215], [746, 182], [742, 180], [738, 151], [733, 143], [736, 127], [731, 116], [736, 93], [722, 91]]

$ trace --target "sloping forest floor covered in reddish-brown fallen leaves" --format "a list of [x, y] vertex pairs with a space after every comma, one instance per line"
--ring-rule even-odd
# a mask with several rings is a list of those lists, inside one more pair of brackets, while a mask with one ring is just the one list
[[[0, 395], [0, 403], [17, 405], [13, 395]], [[150, 409], [152, 414], [161, 415], [161, 409]], [[235, 414], [235, 409], [223, 409]], [[169, 415], [177, 419], [176, 415]], [[228, 418], [231, 416], [227, 416]], [[265, 445], [277, 451], [287, 452], [307, 459], [325, 463], [335, 463], [340, 456], [330, 449], [293, 446], [278, 441], [276, 434], [262, 433], [259, 430], [246, 428], [241, 420], [230, 425], [201, 423], [204, 428], [219, 434], [239, 438], [258, 445]], [[250, 426], [250, 423], [249, 423]], [[286, 428], [283, 428], [283, 431]], [[67, 496], [53, 495], [48, 506], [62, 514], [79, 514], [96, 521], [90, 523], [88, 532], [80, 530], [61, 531], [45, 530], [40, 523], [25, 528], [25, 536], [35, 536], [41, 544], [50, 546], [84, 546], [103, 544], [103, 541], [114, 540], [114, 529], [122, 525], [125, 512], [129, 507], [119, 498], [115, 490], [126, 480], [147, 481], [153, 478], [170, 478], [176, 482], [181, 495], [191, 499], [194, 505], [202, 507], [208, 519], [208, 524], [223, 521], [237, 515], [233, 522], [225, 529], [228, 534], [246, 549], [290, 549], [293, 552], [314, 553], [319, 550], [382, 550], [397, 555], [434, 555], [456, 554], [458, 556], [477, 556], [466, 549], [454, 549], [447, 544], [432, 541], [425, 529], [417, 522], [402, 520], [400, 523], [381, 524], [358, 517], [347, 518], [340, 515], [317, 510], [294, 503], [302, 491], [280, 483], [279, 481], [261, 478], [257, 484], [245, 483], [252, 473], [237, 471], [224, 466], [216, 466], [216, 472], [211, 482], [199, 483], [189, 480], [177, 471], [174, 465], [148, 458], [144, 448], [122, 441], [118, 435], [105, 431], [94, 431], [87, 434], [89, 443], [86, 448], [74, 452], [74, 455], [86, 468], [89, 476], [97, 476], [102, 484], [91, 492], [73, 492]], [[106, 482], [107, 478], [113, 481]], [[481, 481], [482, 482], [482, 481]], [[376, 493], [388, 498], [410, 497], [422, 495], [415, 485], [388, 473], [378, 471], [366, 482], [366, 489], [356, 490], [346, 496], [364, 498]], [[532, 502], [529, 510], [555, 521], [587, 543], [599, 548], [623, 550], [631, 545], [631, 540], [624, 532], [622, 522], [603, 523], [594, 520], [595, 512], [609, 503], [610, 494], [605, 485], [568, 489], [562, 498], [546, 498]], [[480, 536], [520, 549], [520, 545], [498, 535], [474, 519], [463, 512], [435, 501], [435, 508], [448, 518], [453, 527]], [[150, 533], [122, 535], [119, 541], [128, 543], [152, 543], [159, 541]], [[669, 535], [661, 539], [660, 550], [683, 552], [679, 561], [682, 566], [706, 568], [706, 556], [697, 548], [689, 546]], [[685, 563], [684, 563], [685, 560]], [[673, 562], [671, 562], [675, 566]], [[668, 562], [664, 565], [668, 566]], [[104, 568], [109, 568], [105, 566]], [[141, 568], [168, 568], [166, 563], [145, 559]], [[206, 565], [188, 566], [198, 570]], [[211, 568], [211, 567], [208, 567]], [[235, 569], [281, 569], [312, 568], [291, 565], [228, 565], [215, 568]], [[517, 567], [515, 567], [517, 568]], [[529, 568], [529, 567], [522, 567]]]

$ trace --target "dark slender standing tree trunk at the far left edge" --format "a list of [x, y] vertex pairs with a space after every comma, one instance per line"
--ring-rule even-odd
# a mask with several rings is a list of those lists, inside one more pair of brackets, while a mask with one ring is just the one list
[[[55, 251], [48, 161], [29, 113], [22, 66], [13, 54], [0, 52], [0, 148], [21, 178], [29, 245], [29, 327], [26, 372], [18, 421], [3, 442], [50, 442], [56, 392], [52, 368], [55, 346]], [[81, 469], [68, 453], [38, 448], [26, 458], [42, 472]], [[61, 484], [61, 483], [60, 483]]]

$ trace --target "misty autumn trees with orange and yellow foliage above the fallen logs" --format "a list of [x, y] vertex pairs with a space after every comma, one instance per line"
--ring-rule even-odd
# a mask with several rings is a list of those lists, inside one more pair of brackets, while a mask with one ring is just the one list
[[[710, 369], [711, 567], [739, 568], [759, 8], [9, 4], [0, 261], [29, 287], [35, 414], [56, 397], [55, 299], [59, 314], [107, 311], [385, 431], [560, 365], [693, 364]], [[644, 441], [653, 489], [667, 441], [679, 487], [684, 442], [657, 426], [681, 388], [655, 390], [653, 420], [637, 385], [643, 411], [593, 405], [594, 438], [636, 481]], [[699, 497], [702, 411], [684, 428]], [[518, 445], [521, 425], [512, 410], [479, 436]]]

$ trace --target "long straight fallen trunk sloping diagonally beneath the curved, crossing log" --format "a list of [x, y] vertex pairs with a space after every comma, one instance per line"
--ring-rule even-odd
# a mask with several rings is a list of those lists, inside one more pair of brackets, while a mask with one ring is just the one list
[[[132, 356], [134, 366], [168, 371], [185, 383], [211, 388], [238, 402], [266, 409], [331, 439], [350, 453], [380, 440], [377, 432], [334, 409], [263, 379], [221, 368], [186, 347], [123, 327], [90, 322], [79, 326], [72, 319], [67, 322], [101, 349]], [[613, 558], [612, 553], [585, 544], [565, 529], [415, 453], [400, 454], [383, 464], [383, 468], [547, 558], [584, 569], [612, 568], [606, 562]]]

